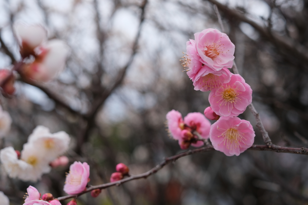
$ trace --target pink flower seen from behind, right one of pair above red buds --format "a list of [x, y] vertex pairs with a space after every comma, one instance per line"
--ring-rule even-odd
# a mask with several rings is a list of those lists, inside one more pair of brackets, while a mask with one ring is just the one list
[[[188, 113], [188, 115], [184, 117], [184, 123], [185, 125], [189, 126], [193, 134], [194, 131], [196, 131], [199, 133], [201, 138], [209, 138], [211, 123], [200, 112]], [[196, 136], [196, 138], [199, 136]], [[203, 144], [203, 141], [197, 141], [193, 142], [191, 145], [194, 147], [201, 147]]]

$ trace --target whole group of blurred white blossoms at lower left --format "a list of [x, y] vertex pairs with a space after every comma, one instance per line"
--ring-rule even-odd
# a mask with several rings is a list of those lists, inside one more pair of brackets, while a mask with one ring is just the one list
[[[53, 161], [67, 151], [69, 143], [70, 137], [66, 132], [51, 134], [48, 128], [39, 125], [21, 152], [13, 147], [3, 148], [0, 150], [0, 160], [10, 177], [36, 182], [51, 170], [50, 164], [55, 164]], [[63, 160], [61, 165], [65, 165]]]

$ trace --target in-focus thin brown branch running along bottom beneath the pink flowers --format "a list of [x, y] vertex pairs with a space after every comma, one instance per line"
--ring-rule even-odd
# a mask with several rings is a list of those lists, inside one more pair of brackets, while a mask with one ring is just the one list
[[[215, 150], [215, 149], [212, 145], [208, 145], [208, 146], [202, 147], [202, 148], [197, 148], [197, 149], [194, 149], [194, 150], [188, 150], [186, 152], [182, 152], [180, 154], [165, 158], [161, 163], [157, 164], [156, 167], [154, 167], [154, 168], [150, 169], [149, 171], [144, 172], [142, 174], [131, 175], [130, 177], [124, 178], [124, 179], [116, 181], [116, 182], [104, 183], [104, 184], [100, 184], [100, 185], [97, 185], [97, 186], [91, 186], [91, 187], [87, 188], [86, 191], [83, 191], [83, 192], [81, 192], [77, 195], [62, 196], [62, 197], [59, 197], [58, 200], [62, 201], [62, 200], [65, 200], [65, 199], [75, 198], [75, 197], [83, 195], [87, 192], [90, 192], [94, 189], [106, 189], [106, 188], [112, 187], [112, 186], [120, 186], [121, 184], [123, 184], [125, 182], [132, 181], [132, 180], [135, 180], [135, 179], [146, 179], [150, 175], [155, 174], [157, 171], [162, 169], [167, 164], [170, 164], [171, 162], [175, 162], [176, 160], [178, 160], [178, 159], [180, 159], [184, 156], [188, 156], [188, 155], [192, 155], [192, 154], [196, 154], [196, 153], [202, 153], [202, 152], [209, 152], [209, 151], [213, 151], [213, 150]], [[284, 153], [308, 155], [308, 148], [304, 148], [304, 147], [302, 147], [302, 148], [289, 148], [289, 147], [274, 147], [274, 146], [268, 147], [267, 145], [253, 145], [252, 147], [248, 148], [248, 150], [272, 151], [272, 152], [284, 152]]]

